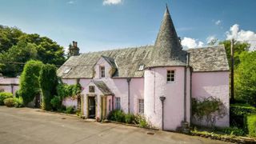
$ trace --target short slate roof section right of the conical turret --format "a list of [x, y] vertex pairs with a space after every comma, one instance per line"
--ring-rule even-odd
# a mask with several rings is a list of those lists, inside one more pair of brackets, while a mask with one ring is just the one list
[[224, 45], [189, 49], [190, 66], [194, 71], [225, 71], [229, 70]]

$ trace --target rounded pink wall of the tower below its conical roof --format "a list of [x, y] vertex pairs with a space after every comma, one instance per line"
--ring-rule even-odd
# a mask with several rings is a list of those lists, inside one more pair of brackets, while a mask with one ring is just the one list
[[[175, 70], [175, 82], [166, 82], [166, 70]], [[164, 130], [176, 130], [184, 118], [184, 67], [158, 67], [145, 70], [145, 114], [154, 126], [162, 128], [162, 102], [165, 96]], [[187, 78], [187, 82], [189, 78]], [[187, 85], [189, 86], [189, 84]], [[187, 92], [189, 92], [189, 88]], [[190, 94], [187, 94], [188, 119], [190, 118]]]

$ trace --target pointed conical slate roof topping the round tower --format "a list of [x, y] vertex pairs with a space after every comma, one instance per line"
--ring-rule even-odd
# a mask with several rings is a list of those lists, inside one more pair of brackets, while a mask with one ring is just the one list
[[182, 50], [167, 6], [158, 37], [154, 43], [153, 58], [150, 66], [186, 66], [186, 51]]

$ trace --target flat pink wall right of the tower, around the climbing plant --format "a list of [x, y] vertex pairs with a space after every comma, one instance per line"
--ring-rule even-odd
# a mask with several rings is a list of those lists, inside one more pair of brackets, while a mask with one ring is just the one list
[[[192, 74], [192, 98], [220, 98], [226, 106], [227, 114], [218, 119], [216, 126], [230, 126], [229, 116], [229, 72], [198, 72]], [[193, 122], [206, 125], [206, 122]]]

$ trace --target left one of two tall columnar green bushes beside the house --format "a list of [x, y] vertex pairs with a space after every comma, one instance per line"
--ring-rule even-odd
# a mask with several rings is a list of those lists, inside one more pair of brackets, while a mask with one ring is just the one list
[[40, 94], [38, 76], [43, 63], [30, 60], [26, 62], [20, 78], [19, 96], [22, 97], [24, 105], [32, 102], [34, 97]]

